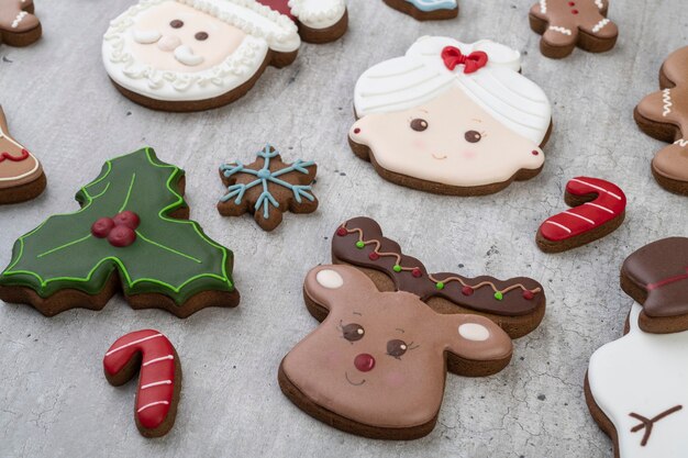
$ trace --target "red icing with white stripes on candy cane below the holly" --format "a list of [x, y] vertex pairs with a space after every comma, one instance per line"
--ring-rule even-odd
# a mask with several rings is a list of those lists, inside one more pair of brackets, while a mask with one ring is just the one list
[[135, 415], [146, 429], [158, 427], [169, 413], [175, 394], [175, 348], [163, 334], [136, 331], [115, 340], [103, 359], [106, 372], [116, 375], [141, 353]]

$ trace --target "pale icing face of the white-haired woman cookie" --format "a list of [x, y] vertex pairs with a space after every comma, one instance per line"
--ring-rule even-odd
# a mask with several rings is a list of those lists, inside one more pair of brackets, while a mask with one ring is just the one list
[[413, 109], [363, 116], [349, 137], [368, 146], [387, 170], [457, 187], [507, 181], [544, 163], [539, 145], [456, 87]]

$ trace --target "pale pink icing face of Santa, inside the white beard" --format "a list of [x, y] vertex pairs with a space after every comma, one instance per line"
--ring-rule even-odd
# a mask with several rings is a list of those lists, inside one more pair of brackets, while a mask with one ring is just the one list
[[246, 34], [224, 21], [177, 1], [142, 12], [129, 46], [142, 64], [158, 70], [201, 71], [236, 51]]

